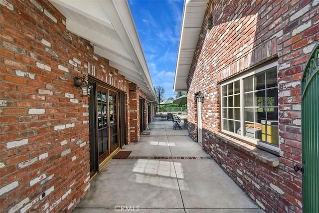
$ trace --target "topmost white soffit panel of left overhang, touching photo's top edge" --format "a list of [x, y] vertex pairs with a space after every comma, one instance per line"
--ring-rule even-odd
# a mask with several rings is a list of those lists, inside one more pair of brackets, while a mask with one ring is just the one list
[[109, 28], [114, 29], [107, 13], [99, 6], [99, 3], [94, 0], [50, 0], [53, 5], [58, 4], [68, 8], [74, 12], [86, 16], [89, 19], [95, 20]]

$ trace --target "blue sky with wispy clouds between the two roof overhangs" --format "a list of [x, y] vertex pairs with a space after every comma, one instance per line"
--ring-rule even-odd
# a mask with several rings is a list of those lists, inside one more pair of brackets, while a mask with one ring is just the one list
[[175, 98], [174, 75], [183, 0], [128, 0], [153, 85]]

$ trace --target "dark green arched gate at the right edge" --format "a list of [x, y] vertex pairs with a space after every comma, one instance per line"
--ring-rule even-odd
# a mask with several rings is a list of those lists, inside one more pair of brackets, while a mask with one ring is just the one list
[[319, 42], [302, 80], [303, 208], [319, 213]]

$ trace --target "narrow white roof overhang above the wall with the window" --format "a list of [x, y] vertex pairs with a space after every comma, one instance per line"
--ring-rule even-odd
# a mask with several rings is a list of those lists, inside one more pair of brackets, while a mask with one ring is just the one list
[[185, 0], [173, 91], [187, 91], [187, 78], [208, 0]]

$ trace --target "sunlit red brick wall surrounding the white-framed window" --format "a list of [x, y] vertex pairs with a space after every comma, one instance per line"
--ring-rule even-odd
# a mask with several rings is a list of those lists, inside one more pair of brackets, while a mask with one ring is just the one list
[[[318, 14], [312, 0], [211, 0], [189, 72], [190, 137], [197, 141], [201, 91], [203, 149], [266, 212], [302, 212], [302, 176], [293, 166], [302, 162], [300, 81], [319, 40]], [[219, 82], [271, 59], [278, 60], [279, 158], [220, 133]]]

